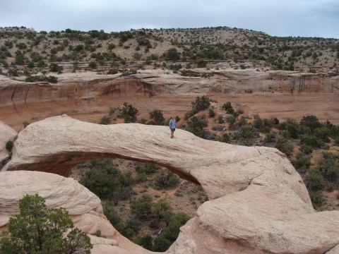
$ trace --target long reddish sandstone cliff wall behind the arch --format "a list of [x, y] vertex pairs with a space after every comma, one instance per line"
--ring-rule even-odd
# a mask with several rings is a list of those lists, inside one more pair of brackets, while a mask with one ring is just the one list
[[[119, 74], [97, 75], [93, 72], [62, 73], [57, 75], [57, 84], [25, 83], [0, 76], [1, 121], [16, 127], [23, 121], [31, 123], [64, 113], [81, 117], [84, 114], [93, 115], [100, 112], [101, 115], [95, 118], [97, 122], [103, 114], [107, 114], [111, 106], [117, 107], [124, 102], [133, 102], [133, 105], [142, 111], [145, 104], [154, 101], [153, 108], [151, 107], [153, 110], [155, 104], [159, 105], [159, 100], [165, 103], [162, 106], [163, 111], [168, 110], [172, 113], [173, 109], [169, 108], [176, 105], [174, 110], [179, 111], [184, 107], [180, 111], [184, 114], [190, 110], [191, 101], [203, 94], [217, 100], [220, 97], [227, 96], [230, 99], [234, 95], [240, 95], [239, 103], [249, 107], [254, 107], [251, 99], [261, 103], [265, 101], [263, 108], [266, 111], [267, 108], [277, 111], [273, 117], [282, 117], [283, 108], [288, 111], [288, 117], [292, 118], [294, 117], [291, 115], [292, 111], [299, 111], [302, 116], [308, 112], [318, 113], [316, 115], [323, 121], [333, 122], [333, 119], [334, 123], [339, 121], [339, 117], [335, 116], [335, 112], [339, 110], [338, 97], [335, 97], [339, 91], [338, 78], [328, 78], [321, 73], [234, 70], [222, 66], [218, 70], [199, 68], [193, 71], [208, 77], [186, 77], [160, 69], [138, 71], [138, 74], [126, 77]], [[322, 97], [316, 100], [315, 95], [323, 95], [326, 99]], [[187, 97], [189, 99], [185, 102]], [[249, 98], [246, 99], [247, 97]], [[275, 106], [270, 107], [267, 104], [270, 97], [273, 97], [273, 105], [281, 101], [285, 104], [276, 109]], [[306, 102], [316, 103], [316, 110], [313, 109], [313, 104], [301, 107], [305, 102], [298, 102], [303, 97], [306, 97], [304, 99]], [[178, 98], [179, 102], [175, 100]], [[325, 105], [321, 107], [322, 104]], [[151, 110], [145, 111], [145, 116], [148, 116]], [[251, 110], [250, 113], [261, 114], [266, 111]], [[89, 118], [90, 116], [83, 120], [92, 121]]]

